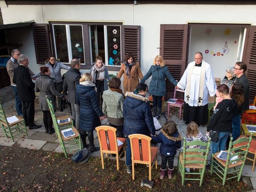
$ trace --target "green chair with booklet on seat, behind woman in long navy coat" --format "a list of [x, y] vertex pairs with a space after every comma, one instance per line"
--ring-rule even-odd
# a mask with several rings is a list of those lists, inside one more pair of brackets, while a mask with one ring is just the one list
[[[48, 103], [48, 106], [49, 106], [49, 109], [51, 112], [53, 126], [54, 126], [54, 130], [56, 132], [56, 135], [58, 137], [59, 144], [60, 144], [62, 151], [64, 152], [66, 158], [68, 158], [68, 155], [67, 155], [68, 152], [82, 150], [80, 134], [78, 133], [78, 131], [75, 129], [74, 126], [67, 127], [65, 125], [65, 128], [62, 127], [62, 129], [60, 129], [57, 118], [55, 117], [52, 101], [47, 99], [47, 103]], [[67, 130], [67, 129], [72, 129], [72, 131], [74, 132], [75, 135], [65, 138], [61, 131]]]

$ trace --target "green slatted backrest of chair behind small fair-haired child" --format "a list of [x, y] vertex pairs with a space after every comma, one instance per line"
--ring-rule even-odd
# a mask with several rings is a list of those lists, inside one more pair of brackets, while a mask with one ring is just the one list
[[[202, 146], [200, 148], [189, 148], [191, 145]], [[210, 148], [210, 138], [208, 142], [201, 140], [186, 142], [186, 137], [183, 139], [183, 160], [184, 164], [204, 164], [206, 165], [207, 156]]]

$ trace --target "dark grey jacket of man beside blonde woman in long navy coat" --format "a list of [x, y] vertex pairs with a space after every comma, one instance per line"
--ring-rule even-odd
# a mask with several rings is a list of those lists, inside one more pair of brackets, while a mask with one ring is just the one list
[[63, 95], [67, 95], [67, 100], [76, 104], [76, 86], [79, 84], [79, 79], [81, 78], [81, 73], [78, 69], [70, 68], [69, 71], [65, 74], [63, 81]]

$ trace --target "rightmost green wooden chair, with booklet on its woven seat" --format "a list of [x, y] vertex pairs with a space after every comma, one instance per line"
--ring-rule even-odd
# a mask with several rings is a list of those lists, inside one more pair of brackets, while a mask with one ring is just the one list
[[[241, 137], [233, 142], [233, 138], [231, 137], [228, 151], [226, 151], [228, 153], [226, 161], [217, 157], [220, 152], [211, 154], [210, 175], [212, 175], [212, 172], [216, 173], [222, 179], [223, 186], [226, 180], [229, 179], [238, 178], [238, 181], [240, 181], [251, 139], [252, 135], [249, 138]], [[246, 148], [246, 150], [241, 151], [243, 148]], [[238, 158], [231, 160], [234, 156], [238, 156]], [[229, 178], [227, 178], [228, 174], [230, 174]]]

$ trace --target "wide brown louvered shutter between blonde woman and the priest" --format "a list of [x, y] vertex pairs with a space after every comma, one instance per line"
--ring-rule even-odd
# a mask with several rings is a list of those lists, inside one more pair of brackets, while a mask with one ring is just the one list
[[[160, 55], [170, 74], [180, 80], [186, 68], [188, 25], [160, 25]], [[173, 96], [174, 85], [166, 80], [166, 97]]]

